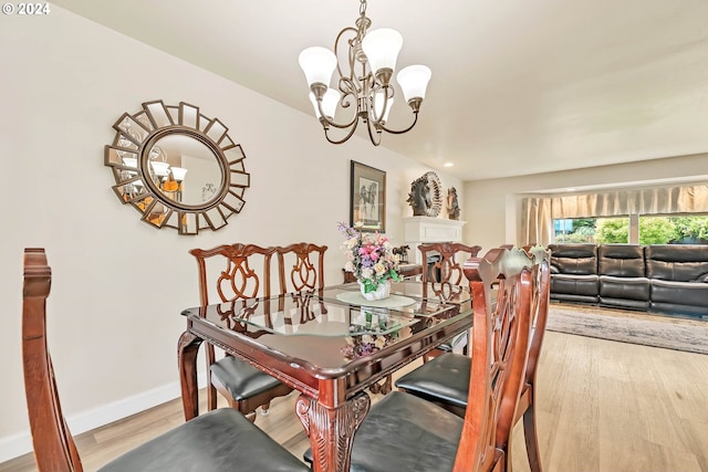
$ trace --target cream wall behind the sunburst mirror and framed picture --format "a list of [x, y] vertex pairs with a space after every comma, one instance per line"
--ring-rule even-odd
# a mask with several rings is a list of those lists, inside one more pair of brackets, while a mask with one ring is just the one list
[[[179, 312], [198, 304], [189, 249], [312, 241], [330, 248], [326, 282], [341, 282], [336, 222], [348, 219], [350, 159], [387, 172], [387, 233], [403, 242], [409, 183], [429, 168], [364, 139], [330, 145], [314, 117], [59, 7], [1, 22], [0, 462], [31, 449], [20, 343], [23, 248], [46, 248], [53, 269], [50, 348], [77, 434], [178, 397]], [[220, 231], [158, 231], [113, 193], [103, 166], [111, 126], [152, 99], [200, 106], [243, 146], [251, 188], [242, 212]], [[458, 179], [440, 178], [461, 190]]]

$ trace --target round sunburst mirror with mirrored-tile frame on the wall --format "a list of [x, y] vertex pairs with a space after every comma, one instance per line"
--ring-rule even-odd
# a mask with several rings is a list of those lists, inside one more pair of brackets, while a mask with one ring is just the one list
[[104, 164], [113, 169], [113, 190], [143, 221], [179, 234], [218, 230], [239, 213], [250, 187], [246, 154], [217, 118], [180, 102], [146, 102], [113, 125]]

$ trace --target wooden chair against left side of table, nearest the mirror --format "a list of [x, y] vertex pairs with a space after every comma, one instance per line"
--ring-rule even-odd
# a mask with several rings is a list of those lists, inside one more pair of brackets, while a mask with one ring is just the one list
[[[199, 269], [201, 306], [240, 298], [271, 296], [271, 262], [277, 248], [256, 244], [222, 244], [212, 249], [189, 251]], [[232, 408], [256, 421], [256, 409], [267, 415], [270, 401], [292, 389], [246, 360], [226, 355], [216, 360], [214, 346], [206, 343], [207, 406], [217, 407], [217, 391]]]

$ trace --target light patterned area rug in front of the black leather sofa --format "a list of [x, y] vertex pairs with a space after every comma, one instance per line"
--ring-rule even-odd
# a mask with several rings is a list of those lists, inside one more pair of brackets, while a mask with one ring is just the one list
[[546, 329], [708, 354], [708, 319], [552, 303]]

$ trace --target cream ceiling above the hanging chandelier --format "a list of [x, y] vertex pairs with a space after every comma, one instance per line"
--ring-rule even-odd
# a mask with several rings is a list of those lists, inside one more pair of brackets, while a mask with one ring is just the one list
[[[308, 114], [298, 54], [332, 48], [360, 6], [53, 3]], [[367, 13], [403, 34], [399, 67], [433, 70], [418, 125], [382, 146], [464, 180], [708, 151], [706, 0], [371, 0]]]

